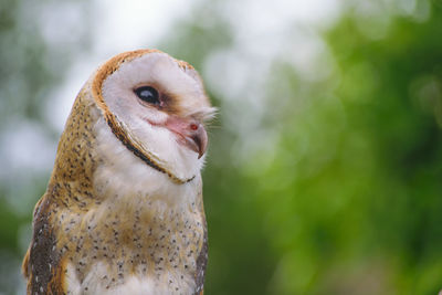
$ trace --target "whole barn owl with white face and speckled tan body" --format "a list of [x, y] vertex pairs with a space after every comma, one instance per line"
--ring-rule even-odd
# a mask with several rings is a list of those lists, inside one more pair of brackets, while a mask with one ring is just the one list
[[197, 71], [122, 53], [75, 99], [33, 213], [28, 294], [202, 294], [200, 170], [214, 114]]

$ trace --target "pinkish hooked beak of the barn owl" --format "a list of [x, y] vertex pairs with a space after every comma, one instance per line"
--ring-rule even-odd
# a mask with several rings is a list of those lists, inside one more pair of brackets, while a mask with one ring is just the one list
[[166, 127], [179, 136], [178, 141], [198, 154], [198, 159], [204, 155], [208, 146], [208, 135], [204, 126], [197, 120], [170, 117]]

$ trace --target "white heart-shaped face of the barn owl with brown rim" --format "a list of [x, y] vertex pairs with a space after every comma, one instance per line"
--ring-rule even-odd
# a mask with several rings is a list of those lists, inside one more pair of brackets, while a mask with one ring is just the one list
[[214, 113], [198, 73], [162, 52], [106, 64], [95, 85], [114, 134], [158, 170], [181, 180], [196, 176], [208, 143], [203, 123]]

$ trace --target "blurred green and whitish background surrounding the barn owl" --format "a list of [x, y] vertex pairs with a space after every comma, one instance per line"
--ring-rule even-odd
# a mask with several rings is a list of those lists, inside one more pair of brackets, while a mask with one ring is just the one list
[[[122, 1], [123, 2], [123, 1]], [[92, 71], [158, 48], [220, 108], [206, 293], [442, 288], [442, 1], [0, 3], [0, 294]]]

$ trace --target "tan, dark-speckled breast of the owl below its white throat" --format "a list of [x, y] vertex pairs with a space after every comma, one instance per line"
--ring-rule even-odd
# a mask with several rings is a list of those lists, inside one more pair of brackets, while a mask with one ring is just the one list
[[82, 219], [64, 217], [60, 230], [70, 236], [62, 246], [67, 291], [192, 294], [206, 243], [197, 203], [171, 209], [161, 200], [126, 198], [139, 201], [103, 202]]

